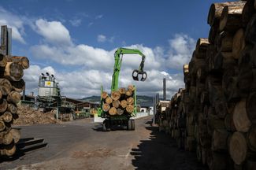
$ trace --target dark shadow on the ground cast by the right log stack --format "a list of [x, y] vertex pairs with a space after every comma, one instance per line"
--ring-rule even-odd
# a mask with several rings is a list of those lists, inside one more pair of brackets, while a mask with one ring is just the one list
[[195, 153], [178, 149], [176, 141], [170, 135], [158, 131], [150, 122], [145, 124], [150, 132], [148, 140], [141, 140], [137, 148], [133, 148], [131, 155], [135, 158], [132, 165], [135, 169], [170, 169], [170, 170], [205, 170], [198, 164]]

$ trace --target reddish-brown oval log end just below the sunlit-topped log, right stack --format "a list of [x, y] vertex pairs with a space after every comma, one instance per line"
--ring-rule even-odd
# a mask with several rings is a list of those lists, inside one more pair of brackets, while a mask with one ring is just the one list
[[239, 59], [240, 53], [245, 47], [245, 39], [244, 39], [244, 30], [243, 28], [240, 28], [238, 31], [236, 31], [236, 34], [234, 35], [233, 42], [232, 42], [232, 56], [235, 59]]

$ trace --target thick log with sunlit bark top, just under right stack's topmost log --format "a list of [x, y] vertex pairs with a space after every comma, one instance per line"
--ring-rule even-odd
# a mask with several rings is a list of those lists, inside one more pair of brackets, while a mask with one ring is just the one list
[[220, 31], [236, 31], [243, 26], [241, 22], [243, 6], [245, 2], [236, 4], [236, 6], [224, 6], [220, 17]]

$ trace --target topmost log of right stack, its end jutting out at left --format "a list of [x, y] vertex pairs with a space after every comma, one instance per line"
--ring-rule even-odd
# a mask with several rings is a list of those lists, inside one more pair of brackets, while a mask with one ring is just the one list
[[210, 6], [207, 23], [210, 24], [210, 26], [213, 26], [214, 24], [218, 24], [224, 6], [234, 6], [234, 5], [239, 4], [239, 3], [241, 3], [241, 2], [213, 3]]

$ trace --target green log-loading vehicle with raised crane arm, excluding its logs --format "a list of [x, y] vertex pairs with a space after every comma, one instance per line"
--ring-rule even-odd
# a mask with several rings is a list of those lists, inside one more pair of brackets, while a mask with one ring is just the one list
[[[118, 91], [119, 73], [121, 71], [121, 64], [122, 64], [122, 59], [124, 54], [139, 54], [142, 57], [142, 61], [140, 62], [139, 68], [135, 69], [132, 72], [132, 78], [135, 81], [139, 81], [139, 80], [145, 81], [147, 79], [147, 72], [143, 71], [146, 56], [139, 50], [118, 48], [114, 54], [115, 63], [113, 67], [111, 92]], [[133, 112], [130, 114], [124, 113], [122, 115], [109, 115], [107, 112], [104, 112], [102, 109], [103, 99], [101, 98], [101, 108], [98, 109], [98, 116], [101, 116], [102, 118], [105, 119], [103, 121], [103, 131], [110, 131], [111, 128], [115, 125], [126, 126], [128, 130], [135, 130], [135, 121], [132, 119], [132, 117], [136, 116], [136, 113], [137, 113], [136, 90], [133, 93], [132, 98], [134, 98]]]

